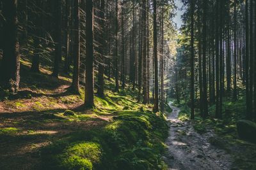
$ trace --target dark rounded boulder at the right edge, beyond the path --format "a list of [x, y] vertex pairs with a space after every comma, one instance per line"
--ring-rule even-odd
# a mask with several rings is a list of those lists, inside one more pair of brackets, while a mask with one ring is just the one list
[[239, 120], [237, 122], [237, 133], [239, 138], [256, 143], [256, 124], [250, 120]]

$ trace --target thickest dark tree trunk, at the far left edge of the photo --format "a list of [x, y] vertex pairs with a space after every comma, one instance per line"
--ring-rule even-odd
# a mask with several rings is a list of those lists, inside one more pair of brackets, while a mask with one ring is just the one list
[[17, 0], [3, 1], [3, 60], [1, 81], [5, 89], [15, 93], [19, 90], [20, 54], [18, 41]]

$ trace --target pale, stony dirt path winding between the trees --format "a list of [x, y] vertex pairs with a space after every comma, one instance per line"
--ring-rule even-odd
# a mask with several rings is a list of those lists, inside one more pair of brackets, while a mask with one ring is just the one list
[[168, 152], [164, 158], [168, 169], [230, 169], [230, 155], [209, 143], [214, 132], [198, 134], [192, 122], [178, 120], [180, 109], [172, 106], [172, 103], [169, 105], [173, 111], [168, 116], [170, 132], [166, 141]]

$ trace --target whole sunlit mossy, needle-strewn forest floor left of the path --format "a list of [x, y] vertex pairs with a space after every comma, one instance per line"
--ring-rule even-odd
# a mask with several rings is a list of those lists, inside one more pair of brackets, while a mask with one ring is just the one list
[[108, 80], [104, 99], [83, 110], [84, 89], [72, 94], [70, 75], [53, 78], [49, 67], [30, 73], [29, 60], [21, 63], [20, 92], [4, 92], [0, 102], [0, 169], [165, 168], [168, 126], [136, 101], [136, 90], [114, 93]]

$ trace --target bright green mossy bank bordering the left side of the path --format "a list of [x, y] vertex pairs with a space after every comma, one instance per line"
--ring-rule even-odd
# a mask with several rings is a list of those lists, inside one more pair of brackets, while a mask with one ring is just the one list
[[161, 115], [118, 111], [103, 128], [68, 134], [42, 150], [43, 169], [164, 169]]

